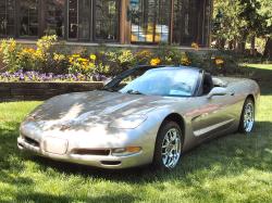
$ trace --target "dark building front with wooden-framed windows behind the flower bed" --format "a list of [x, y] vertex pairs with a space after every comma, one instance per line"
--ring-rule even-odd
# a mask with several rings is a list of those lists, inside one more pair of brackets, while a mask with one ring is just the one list
[[210, 43], [212, 0], [0, 0], [0, 38]]

